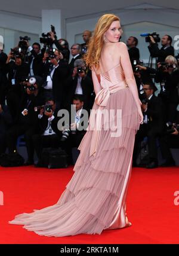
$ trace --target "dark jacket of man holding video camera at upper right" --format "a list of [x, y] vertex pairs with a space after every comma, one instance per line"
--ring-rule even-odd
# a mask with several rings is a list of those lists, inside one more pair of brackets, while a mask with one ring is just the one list
[[169, 46], [164, 50], [164, 47], [162, 46], [161, 49], [158, 47], [158, 43], [152, 44], [151, 46], [148, 46], [151, 57], [158, 57], [157, 62], [164, 62], [165, 58], [168, 55], [174, 56], [174, 47]]

